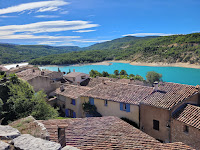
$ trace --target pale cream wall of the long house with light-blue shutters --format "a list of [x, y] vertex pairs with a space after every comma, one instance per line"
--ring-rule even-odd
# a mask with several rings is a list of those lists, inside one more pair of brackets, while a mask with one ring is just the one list
[[[81, 97], [82, 103], [88, 102], [88, 97]], [[116, 116], [116, 117], [125, 117], [131, 121], [134, 121], [139, 126], [139, 106], [130, 105], [130, 112], [120, 110], [120, 103], [108, 101], [108, 105], [104, 106], [104, 100], [94, 99], [94, 105], [97, 107], [97, 111], [102, 116]], [[84, 117], [84, 112], [82, 112], [82, 117]]]

